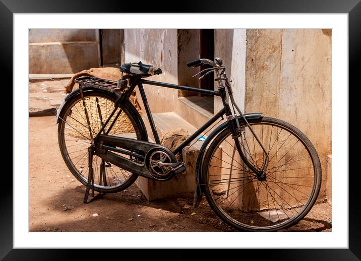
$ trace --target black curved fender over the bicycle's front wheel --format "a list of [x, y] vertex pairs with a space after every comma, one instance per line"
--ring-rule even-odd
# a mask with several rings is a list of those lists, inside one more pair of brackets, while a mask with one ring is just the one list
[[[248, 119], [258, 119], [260, 118], [262, 115], [262, 113], [248, 113], [248, 114], [244, 114], [245, 118]], [[239, 123], [243, 122], [244, 119], [242, 116], [238, 116], [238, 121]], [[204, 144], [202, 145], [201, 149], [199, 150], [198, 153], [198, 157], [197, 157], [197, 163], [196, 163], [196, 187], [195, 187], [195, 191], [194, 191], [194, 199], [193, 199], [193, 207], [197, 208], [199, 203], [202, 200], [202, 187], [200, 185], [200, 176], [201, 176], [201, 172], [202, 172], [202, 161], [203, 161], [203, 157], [204, 157], [204, 153], [208, 147], [208, 145], [210, 144], [210, 142], [220, 133], [222, 132], [222, 130], [224, 130], [226, 127], [228, 126], [228, 121], [222, 123], [221, 125], [219, 125], [215, 130], [213, 130], [213, 132], [207, 137], [206, 141], [204, 142]]]

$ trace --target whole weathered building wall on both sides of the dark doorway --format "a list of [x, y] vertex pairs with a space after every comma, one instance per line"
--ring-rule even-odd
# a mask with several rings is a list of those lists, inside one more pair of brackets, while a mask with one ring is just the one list
[[[179, 68], [188, 60], [182, 54], [186, 49], [179, 49], [179, 36], [177, 30], [125, 30], [125, 61], [160, 67], [163, 74], [151, 80], [186, 85], [187, 77], [179, 78], [188, 70]], [[189, 37], [184, 44], [192, 41], [198, 42]], [[240, 109], [283, 119], [309, 137], [322, 164], [320, 199], [326, 197], [327, 155], [332, 153], [330, 30], [215, 30], [214, 43]], [[205, 122], [193, 111], [191, 116], [181, 111], [186, 106], [177, 100], [177, 90], [145, 86], [145, 91], [153, 113], [175, 111], [189, 122], [192, 117]], [[214, 111], [221, 108], [215, 97]], [[227, 153], [230, 149], [222, 147]]]

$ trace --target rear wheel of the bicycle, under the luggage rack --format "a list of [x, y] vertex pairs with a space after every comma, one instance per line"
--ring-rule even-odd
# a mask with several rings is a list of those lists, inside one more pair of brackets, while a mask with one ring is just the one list
[[[111, 93], [92, 90], [83, 92], [93, 137], [114, 109], [116, 96]], [[116, 115], [120, 112], [118, 118]], [[147, 134], [136, 120], [139, 113], [126, 101], [120, 104], [105, 132], [112, 125], [108, 135], [147, 141]], [[140, 117], [140, 116], [139, 116]], [[84, 185], [88, 182], [88, 147], [91, 145], [90, 131], [83, 100], [80, 93], [67, 102], [64, 113], [59, 116], [58, 144], [63, 159], [72, 174]], [[138, 177], [113, 164], [93, 156], [94, 190], [104, 193], [121, 191], [129, 187]]]

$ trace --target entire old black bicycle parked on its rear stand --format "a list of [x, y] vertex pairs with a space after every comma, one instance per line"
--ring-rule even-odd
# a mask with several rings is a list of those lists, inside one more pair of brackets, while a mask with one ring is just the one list
[[[162, 71], [141, 62], [122, 64], [117, 82], [76, 79], [79, 89], [66, 97], [56, 117], [63, 159], [87, 186], [84, 203], [90, 189], [94, 199], [124, 190], [139, 175], [159, 181], [179, 175], [186, 166], [176, 155], [212, 130], [197, 158], [194, 207], [204, 193], [220, 219], [238, 230], [277, 231], [296, 224], [320, 191], [321, 163], [314, 146], [285, 121], [262, 113], [243, 114], [234, 102], [221, 58], [187, 63], [193, 68], [201, 65], [210, 67], [195, 76], [202, 79], [214, 72], [217, 91], [145, 80]], [[160, 144], [143, 84], [219, 96], [223, 108], [171, 151]], [[136, 86], [155, 143], [148, 141], [142, 117], [130, 102]], [[223, 116], [226, 121], [220, 124]], [[99, 194], [94, 196], [94, 190]]]

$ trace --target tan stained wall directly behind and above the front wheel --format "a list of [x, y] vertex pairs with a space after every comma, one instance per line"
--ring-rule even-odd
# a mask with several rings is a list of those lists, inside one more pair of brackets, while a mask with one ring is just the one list
[[247, 30], [246, 112], [283, 119], [311, 140], [326, 195], [331, 154], [331, 31]]

